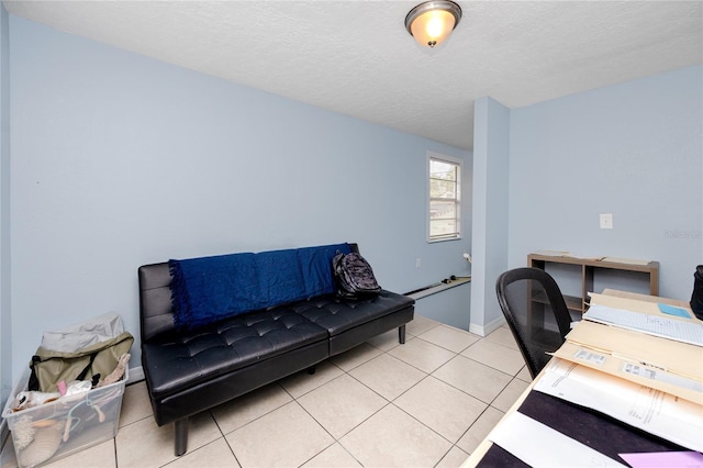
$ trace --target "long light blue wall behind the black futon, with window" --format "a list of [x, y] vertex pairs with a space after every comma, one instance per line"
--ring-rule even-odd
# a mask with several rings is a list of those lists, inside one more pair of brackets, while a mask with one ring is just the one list
[[470, 153], [13, 15], [10, 40], [15, 378], [43, 331], [137, 336], [147, 263], [350, 241], [387, 289], [467, 272], [470, 236], [426, 243], [426, 152], [469, 180]]

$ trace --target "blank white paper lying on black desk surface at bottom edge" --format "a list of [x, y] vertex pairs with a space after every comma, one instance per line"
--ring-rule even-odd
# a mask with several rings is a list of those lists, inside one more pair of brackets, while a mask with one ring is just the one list
[[[525, 434], [529, 434], [529, 437]], [[520, 412], [501, 421], [488, 438], [533, 467], [627, 466]]]

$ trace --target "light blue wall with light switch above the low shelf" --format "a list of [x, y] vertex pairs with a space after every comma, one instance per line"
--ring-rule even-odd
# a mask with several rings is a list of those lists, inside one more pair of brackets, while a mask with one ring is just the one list
[[703, 263], [702, 69], [511, 112], [510, 266], [536, 249], [658, 260], [660, 296], [691, 298]]

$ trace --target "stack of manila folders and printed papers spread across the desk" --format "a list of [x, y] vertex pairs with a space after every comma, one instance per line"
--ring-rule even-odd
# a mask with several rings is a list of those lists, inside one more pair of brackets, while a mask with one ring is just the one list
[[591, 294], [535, 390], [703, 452], [703, 324], [660, 305]]

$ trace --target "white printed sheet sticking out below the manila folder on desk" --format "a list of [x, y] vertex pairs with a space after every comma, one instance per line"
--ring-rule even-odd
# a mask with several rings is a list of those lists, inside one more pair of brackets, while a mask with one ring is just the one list
[[703, 405], [559, 358], [553, 358], [535, 390], [591, 408], [703, 452]]

